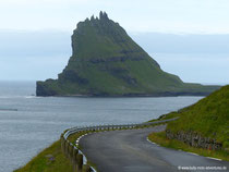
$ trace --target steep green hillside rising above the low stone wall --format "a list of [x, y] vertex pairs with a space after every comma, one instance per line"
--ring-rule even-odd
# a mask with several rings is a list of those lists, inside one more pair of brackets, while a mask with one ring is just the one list
[[[215, 139], [215, 143], [220, 143], [224, 148], [229, 148], [229, 86], [220, 88], [191, 107], [161, 119], [169, 116], [180, 116], [177, 121], [168, 124], [169, 137], [182, 140], [181, 134], [190, 134], [195, 135], [194, 137], [198, 136], [195, 138], [198, 143], [202, 137], [209, 146], [210, 143], [213, 144], [210, 139]], [[201, 145], [196, 146], [202, 147]]]

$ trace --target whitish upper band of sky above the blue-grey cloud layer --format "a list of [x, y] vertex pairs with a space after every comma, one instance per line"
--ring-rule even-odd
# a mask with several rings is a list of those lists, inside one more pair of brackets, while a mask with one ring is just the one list
[[0, 0], [0, 28], [72, 30], [100, 10], [130, 32], [229, 33], [228, 0]]

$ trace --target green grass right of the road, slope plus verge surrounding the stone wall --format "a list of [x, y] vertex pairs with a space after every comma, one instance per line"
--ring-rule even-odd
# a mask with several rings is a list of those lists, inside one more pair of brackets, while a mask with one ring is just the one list
[[162, 115], [160, 120], [174, 116], [180, 118], [177, 121], [169, 122], [167, 131], [172, 134], [179, 132], [195, 133], [203, 138], [215, 139], [216, 143], [221, 144], [220, 150], [206, 151], [203, 150], [203, 147], [200, 149], [185, 146], [178, 139], [168, 139], [166, 132], [152, 134], [149, 137], [167, 147], [183, 148], [208, 156], [212, 153], [212, 156], [229, 160], [229, 86], [221, 87], [193, 106]]

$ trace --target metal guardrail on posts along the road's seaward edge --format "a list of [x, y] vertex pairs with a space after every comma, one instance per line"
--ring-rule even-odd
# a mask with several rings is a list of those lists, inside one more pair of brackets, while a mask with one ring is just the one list
[[155, 122], [140, 123], [140, 124], [124, 124], [124, 125], [97, 125], [97, 126], [85, 126], [85, 127], [72, 127], [61, 134], [61, 149], [64, 155], [71, 160], [73, 164], [73, 172], [96, 172], [96, 170], [87, 164], [86, 156], [76, 147], [76, 145], [70, 143], [68, 137], [72, 134], [81, 132], [99, 132], [110, 130], [131, 130], [136, 127], [146, 127], [153, 124], [165, 123], [174, 121], [178, 118], [161, 120]]

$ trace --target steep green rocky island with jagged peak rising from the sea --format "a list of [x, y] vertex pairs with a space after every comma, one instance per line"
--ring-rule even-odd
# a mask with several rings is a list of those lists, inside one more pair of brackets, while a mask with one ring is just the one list
[[37, 96], [208, 95], [216, 86], [185, 84], [164, 72], [106, 13], [77, 24], [72, 57], [58, 79], [37, 82]]

